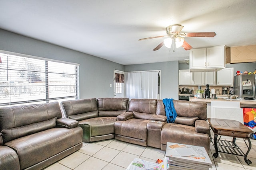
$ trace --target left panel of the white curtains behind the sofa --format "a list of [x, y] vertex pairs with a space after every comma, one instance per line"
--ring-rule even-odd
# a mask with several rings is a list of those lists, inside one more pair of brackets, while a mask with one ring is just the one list
[[129, 99], [141, 98], [141, 74], [140, 72], [125, 73], [125, 96]]

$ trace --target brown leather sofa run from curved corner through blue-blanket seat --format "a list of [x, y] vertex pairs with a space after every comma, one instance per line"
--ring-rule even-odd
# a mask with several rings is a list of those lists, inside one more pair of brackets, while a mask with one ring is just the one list
[[[64, 117], [75, 119], [84, 131], [83, 141], [118, 139], [166, 150], [167, 142], [210, 149], [207, 104], [173, 100], [177, 117], [166, 122], [162, 100], [92, 98], [60, 104]], [[97, 110], [98, 109], [98, 110]]]

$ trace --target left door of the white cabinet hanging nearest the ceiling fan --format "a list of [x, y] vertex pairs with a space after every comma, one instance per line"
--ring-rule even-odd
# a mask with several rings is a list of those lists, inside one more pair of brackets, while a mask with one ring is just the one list
[[189, 53], [189, 68], [206, 68], [206, 48], [191, 49]]

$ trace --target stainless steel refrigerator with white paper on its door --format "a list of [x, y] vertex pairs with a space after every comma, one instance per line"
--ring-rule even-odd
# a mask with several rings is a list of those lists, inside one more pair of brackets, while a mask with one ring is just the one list
[[234, 76], [235, 95], [239, 98], [255, 97], [255, 74], [241, 74]]

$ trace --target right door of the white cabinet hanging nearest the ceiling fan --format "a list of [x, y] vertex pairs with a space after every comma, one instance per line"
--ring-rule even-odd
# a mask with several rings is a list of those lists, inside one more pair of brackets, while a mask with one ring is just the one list
[[225, 67], [225, 46], [207, 48], [207, 68]]

